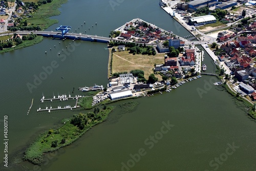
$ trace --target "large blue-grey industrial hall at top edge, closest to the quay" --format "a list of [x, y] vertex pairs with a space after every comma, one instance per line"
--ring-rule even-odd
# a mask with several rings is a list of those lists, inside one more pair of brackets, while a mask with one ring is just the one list
[[218, 4], [221, 4], [221, 2], [218, 2], [217, 0], [195, 0], [187, 3], [188, 8], [193, 9], [194, 11], [203, 7], [214, 7]]

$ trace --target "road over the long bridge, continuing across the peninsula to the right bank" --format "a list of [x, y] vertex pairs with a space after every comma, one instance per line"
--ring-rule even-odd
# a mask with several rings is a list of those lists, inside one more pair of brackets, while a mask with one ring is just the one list
[[[53, 31], [16, 31], [16, 32], [10, 32], [10, 33], [4, 33], [0, 36], [10, 35], [10, 34], [20, 34], [20, 35], [27, 35], [30, 33], [34, 33], [37, 35], [41, 35], [44, 37], [55, 37], [55, 38], [67, 38], [67, 39], [77, 39], [77, 40], [85, 40], [85, 41], [96, 41], [96, 42], [103, 42], [108, 43], [111, 40], [116, 41], [122, 41], [122, 42], [129, 42], [129, 40], [121, 40], [117, 38], [110, 38], [110, 37], [103, 37], [103, 36], [97, 36], [97, 35], [88, 35], [88, 34], [81, 34], [81, 33], [66, 33], [64, 36], [61, 35], [60, 32], [53, 32]], [[184, 39], [184, 38], [181, 38]], [[144, 44], [144, 42], [136, 42], [138, 44]], [[203, 44], [211, 44], [210, 41], [190, 41], [186, 40], [185, 45], [203, 45]], [[146, 45], [152, 45], [156, 46], [157, 44], [154, 43], [147, 43]]]

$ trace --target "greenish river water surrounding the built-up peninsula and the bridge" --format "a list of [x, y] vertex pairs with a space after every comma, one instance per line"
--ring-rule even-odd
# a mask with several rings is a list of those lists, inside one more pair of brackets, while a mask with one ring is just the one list
[[[84, 34], [87, 30], [87, 34], [108, 36], [110, 30], [139, 17], [179, 36], [189, 35], [156, 0], [113, 0], [118, 4], [115, 7], [110, 2], [69, 1], [61, 6], [59, 16], [52, 17], [59, 23], [47, 30], [68, 25], [71, 32]], [[9, 169], [1, 170], [255, 170], [256, 124], [228, 93], [212, 86], [218, 80], [210, 76], [187, 82], [170, 93], [136, 99], [139, 105], [130, 113], [121, 113], [118, 108], [118, 104], [130, 100], [113, 103], [117, 109], [106, 122], [72, 145], [44, 156], [42, 166], [21, 162], [27, 145], [36, 136], [63, 118], [86, 112], [37, 113], [39, 107], [74, 104], [74, 100], [41, 103], [42, 93], [51, 98], [53, 93], [72, 94], [75, 88], [72, 95], [86, 95], [77, 88], [94, 83], [105, 86], [109, 57], [105, 47], [96, 42], [44, 38], [37, 45], [1, 54], [0, 130], [3, 135], [6, 115], [9, 133]], [[207, 72], [214, 73], [207, 54], [204, 63]], [[35, 80], [37, 77], [40, 80]], [[27, 115], [32, 98], [34, 103]], [[161, 128], [168, 122], [172, 127], [165, 127], [163, 133]], [[4, 149], [3, 143], [0, 148]]]

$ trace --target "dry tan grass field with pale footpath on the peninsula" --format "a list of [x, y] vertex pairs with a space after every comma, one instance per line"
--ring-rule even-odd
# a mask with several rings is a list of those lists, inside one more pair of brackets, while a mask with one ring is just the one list
[[164, 63], [165, 54], [141, 55], [129, 54], [129, 51], [121, 51], [113, 53], [112, 73], [130, 72], [131, 70], [142, 70], [147, 79], [150, 74], [154, 73], [155, 63]]

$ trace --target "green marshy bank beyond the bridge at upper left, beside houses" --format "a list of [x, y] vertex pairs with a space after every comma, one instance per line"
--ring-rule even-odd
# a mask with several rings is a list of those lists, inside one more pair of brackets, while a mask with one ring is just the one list
[[49, 26], [58, 23], [57, 19], [50, 19], [49, 17], [59, 15], [58, 8], [61, 4], [67, 2], [68, 0], [53, 0], [51, 3], [39, 6], [38, 10], [33, 13], [33, 17], [27, 19], [28, 24], [39, 25], [42, 29], [47, 29]]

